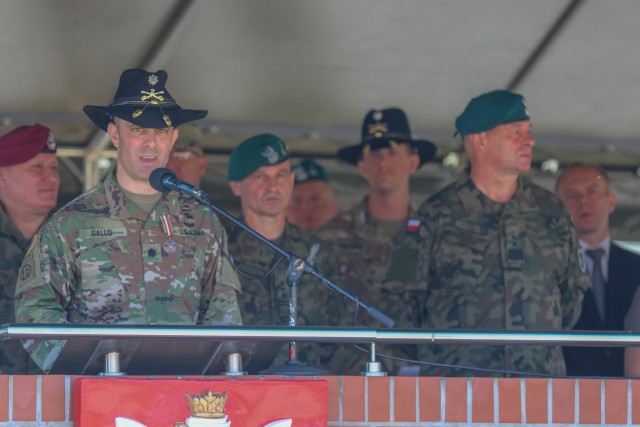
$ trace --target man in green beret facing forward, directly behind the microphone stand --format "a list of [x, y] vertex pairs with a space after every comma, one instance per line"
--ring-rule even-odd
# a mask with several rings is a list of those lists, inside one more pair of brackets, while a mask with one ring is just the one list
[[[324, 276], [331, 278], [335, 274], [336, 264], [327, 245], [286, 219], [294, 175], [289, 150], [280, 138], [260, 134], [238, 145], [229, 158], [227, 178], [233, 193], [240, 197], [241, 221], [284, 250], [303, 258]], [[244, 323], [288, 325], [288, 261], [283, 259], [271, 274], [260, 280], [244, 277], [243, 272], [254, 276], [264, 275], [281, 255], [236, 224], [227, 225], [226, 228], [229, 232], [229, 250], [242, 282], [242, 293], [238, 300]], [[338, 297], [319, 279], [304, 275], [297, 284], [297, 297], [297, 326], [339, 324]], [[302, 362], [326, 369], [335, 347], [300, 343], [298, 356]], [[274, 364], [286, 360], [286, 354], [287, 351], [281, 352]]]

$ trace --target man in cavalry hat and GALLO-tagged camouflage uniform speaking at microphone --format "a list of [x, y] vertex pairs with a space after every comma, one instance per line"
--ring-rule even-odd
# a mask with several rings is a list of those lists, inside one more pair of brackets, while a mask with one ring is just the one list
[[[154, 190], [186, 110], [165, 88], [167, 73], [122, 73], [114, 102], [85, 113], [111, 137], [115, 169], [58, 211], [27, 252], [16, 318], [29, 323], [239, 325], [235, 271], [226, 234], [190, 196]], [[223, 248], [214, 238], [217, 233]], [[25, 342], [48, 372], [64, 341]]]

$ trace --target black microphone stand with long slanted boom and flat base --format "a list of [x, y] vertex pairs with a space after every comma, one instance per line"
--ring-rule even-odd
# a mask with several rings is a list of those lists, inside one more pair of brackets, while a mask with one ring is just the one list
[[[258, 239], [260, 242], [267, 245], [269, 248], [279, 253], [280, 255], [282, 255], [288, 260], [289, 264], [287, 266], [287, 282], [290, 287], [290, 298], [289, 298], [289, 326], [290, 327], [296, 326], [296, 318], [298, 313], [297, 284], [302, 278], [303, 274], [309, 274], [316, 277], [325, 285], [327, 285], [327, 287], [329, 287], [331, 290], [338, 292], [342, 296], [348, 298], [349, 300], [356, 303], [358, 306], [362, 307], [367, 313], [369, 313], [372, 317], [374, 317], [376, 320], [381, 322], [383, 325], [388, 326], [390, 328], [393, 327], [395, 321], [391, 319], [389, 316], [377, 310], [376, 308], [365, 304], [355, 294], [336, 285], [331, 280], [324, 277], [324, 275], [320, 271], [318, 271], [317, 268], [310, 266], [302, 258], [294, 255], [291, 252], [285, 251], [283, 248], [276, 245], [271, 240], [267, 239], [262, 234], [255, 231], [253, 228], [244, 224], [242, 221], [239, 221], [236, 217], [234, 217], [233, 215], [231, 215], [221, 207], [217, 206], [215, 203], [211, 202], [211, 200], [206, 195], [206, 193], [199, 192], [197, 194], [192, 193], [192, 195], [201, 203], [204, 203], [207, 206], [209, 206], [211, 210], [215, 211], [220, 216], [223, 216], [224, 218], [228, 219], [238, 227], [242, 228], [244, 231], [246, 231], [256, 239]], [[274, 368], [260, 371], [260, 374], [265, 374], [265, 375], [325, 375], [326, 373], [327, 373], [326, 371], [309, 367], [305, 363], [298, 361], [295, 341], [291, 341], [289, 343], [289, 360], [285, 362], [284, 366], [274, 367]]]

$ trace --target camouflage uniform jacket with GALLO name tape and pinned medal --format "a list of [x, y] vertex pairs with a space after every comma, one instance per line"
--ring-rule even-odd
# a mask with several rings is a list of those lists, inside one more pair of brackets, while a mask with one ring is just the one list
[[[176, 243], [167, 251], [161, 217]], [[226, 233], [217, 217], [223, 246]], [[112, 170], [40, 230], [20, 269], [20, 323], [242, 324], [235, 270], [214, 238], [209, 208], [169, 192], [150, 215], [125, 197]], [[26, 341], [45, 372], [64, 341]]]

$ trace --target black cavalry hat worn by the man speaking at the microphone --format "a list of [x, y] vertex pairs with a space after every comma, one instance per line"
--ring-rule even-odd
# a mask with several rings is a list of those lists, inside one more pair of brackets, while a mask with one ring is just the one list
[[139, 68], [125, 70], [113, 103], [107, 107], [85, 105], [82, 109], [96, 126], [107, 131], [114, 117], [144, 128], [179, 126], [207, 115], [207, 110], [185, 110], [165, 88], [167, 72], [150, 73]]

